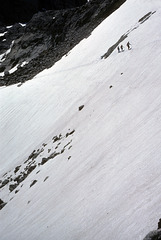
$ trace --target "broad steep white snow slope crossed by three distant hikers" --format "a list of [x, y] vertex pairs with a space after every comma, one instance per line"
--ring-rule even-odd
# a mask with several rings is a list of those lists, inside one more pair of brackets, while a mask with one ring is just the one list
[[0, 88], [1, 240], [157, 228], [160, 19], [160, 0], [127, 0], [53, 67]]

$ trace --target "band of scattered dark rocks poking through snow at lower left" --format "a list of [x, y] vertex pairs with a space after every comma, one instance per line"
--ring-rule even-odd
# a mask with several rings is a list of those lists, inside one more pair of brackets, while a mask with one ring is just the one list
[[[21, 165], [16, 166], [15, 169], [2, 176], [0, 179], [0, 190], [3, 189], [5, 192], [8, 192], [9, 198], [5, 199], [5, 201], [0, 198], [0, 210], [14, 198], [14, 195], [10, 196], [10, 193], [17, 194], [23, 186], [23, 181], [33, 171], [35, 171], [35, 179], [31, 182], [30, 187], [37, 183], [38, 180], [36, 179], [36, 176], [48, 161], [55, 159], [60, 154], [62, 155], [65, 151], [68, 151], [69, 155], [67, 161], [70, 160], [70, 149], [72, 148], [74, 133], [74, 129], [69, 129], [65, 135], [62, 135], [61, 133], [58, 136], [55, 135], [52, 138], [51, 144], [43, 143], [40, 148], [33, 150]], [[44, 182], [48, 178], [49, 176], [46, 176]]]

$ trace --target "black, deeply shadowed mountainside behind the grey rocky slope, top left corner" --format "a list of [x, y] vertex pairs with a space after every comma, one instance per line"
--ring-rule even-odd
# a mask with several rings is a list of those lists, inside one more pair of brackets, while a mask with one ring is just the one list
[[0, 21], [5, 24], [28, 22], [38, 11], [77, 7], [85, 3], [86, 0], [1, 0]]

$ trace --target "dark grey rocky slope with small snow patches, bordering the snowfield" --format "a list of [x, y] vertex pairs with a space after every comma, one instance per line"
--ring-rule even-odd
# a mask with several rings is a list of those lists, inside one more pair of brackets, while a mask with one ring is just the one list
[[[2, 26], [1, 32], [7, 33], [0, 38], [0, 54], [12, 46], [1, 60], [0, 72], [5, 76], [0, 78], [0, 85], [23, 83], [51, 67], [125, 1], [93, 0], [70, 10], [39, 12], [25, 27], [16, 24], [7, 30]], [[17, 70], [9, 74], [14, 67]]]

